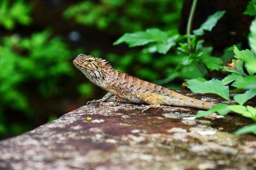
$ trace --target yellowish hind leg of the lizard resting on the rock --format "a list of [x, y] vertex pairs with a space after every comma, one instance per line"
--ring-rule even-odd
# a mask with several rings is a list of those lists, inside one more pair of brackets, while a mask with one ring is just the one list
[[159, 95], [159, 94], [154, 94], [154, 93], [139, 93], [136, 94], [136, 96], [141, 99], [141, 101], [150, 104], [142, 110], [142, 113], [144, 113], [147, 110], [150, 110], [152, 108], [157, 109], [161, 108], [161, 104], [164, 104], [164, 97]]

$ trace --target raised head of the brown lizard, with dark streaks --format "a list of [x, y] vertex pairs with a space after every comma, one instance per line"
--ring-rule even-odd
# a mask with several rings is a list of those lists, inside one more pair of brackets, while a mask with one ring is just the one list
[[104, 81], [109, 70], [112, 69], [106, 60], [92, 57], [92, 55], [79, 54], [73, 63], [90, 81], [97, 85]]

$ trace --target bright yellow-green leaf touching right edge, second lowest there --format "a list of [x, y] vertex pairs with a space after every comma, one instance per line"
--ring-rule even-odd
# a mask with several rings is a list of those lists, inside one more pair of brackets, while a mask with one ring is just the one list
[[252, 106], [241, 106], [241, 105], [232, 105], [228, 108], [243, 117], [252, 118], [256, 122], [256, 109]]

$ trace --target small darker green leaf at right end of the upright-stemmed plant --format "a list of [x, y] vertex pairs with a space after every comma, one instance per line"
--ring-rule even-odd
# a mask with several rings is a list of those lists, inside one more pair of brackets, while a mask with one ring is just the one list
[[212, 70], [219, 70], [221, 69], [221, 64], [223, 64], [223, 61], [218, 57], [211, 57], [208, 55], [202, 56], [201, 62], [204, 62], [205, 66]]

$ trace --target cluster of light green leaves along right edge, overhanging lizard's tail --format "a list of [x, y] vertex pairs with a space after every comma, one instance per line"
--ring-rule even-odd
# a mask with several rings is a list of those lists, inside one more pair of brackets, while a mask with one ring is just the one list
[[[256, 15], [256, 1], [251, 1], [248, 4], [245, 14], [248, 15]], [[239, 50], [237, 46], [233, 46], [229, 50], [234, 52], [234, 59], [232, 62], [227, 62], [227, 66], [223, 67], [224, 71], [229, 72], [228, 76], [223, 78], [223, 80], [210, 80], [201, 82], [199, 80], [188, 80], [188, 88], [191, 89], [195, 93], [202, 93], [198, 91], [198, 86], [202, 88], [203, 93], [213, 93], [218, 94], [223, 97], [227, 101], [229, 99], [229, 86], [233, 87], [237, 90], [244, 90], [243, 94], [234, 95], [234, 101], [237, 104], [218, 104], [212, 107], [208, 111], [198, 111], [196, 117], [204, 117], [205, 115], [209, 115], [213, 112], [219, 113], [220, 115], [226, 115], [230, 111], [238, 113], [243, 117], [252, 118], [253, 121], [256, 122], [256, 108], [253, 106], [244, 106], [246, 101], [252, 99], [256, 96], [256, 19], [253, 20], [252, 25], [250, 27], [250, 35], [249, 35], [249, 44], [251, 49]], [[212, 87], [218, 87], [214, 89], [207, 89], [205, 84], [211, 85]], [[202, 85], [203, 84], [203, 85]], [[228, 86], [229, 85], [229, 86]], [[209, 86], [208, 86], [209, 87]], [[248, 125], [243, 127], [235, 132], [235, 134], [244, 134], [252, 132], [256, 134], [256, 124]]]

